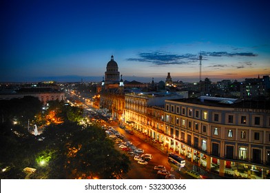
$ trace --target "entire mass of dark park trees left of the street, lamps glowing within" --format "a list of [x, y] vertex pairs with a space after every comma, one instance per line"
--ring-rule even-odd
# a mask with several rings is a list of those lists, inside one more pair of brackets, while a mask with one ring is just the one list
[[[51, 123], [37, 136], [25, 125], [0, 123], [0, 167], [8, 168], [0, 173], [1, 179], [25, 178], [25, 167], [37, 169], [30, 175], [32, 179], [115, 179], [129, 170], [128, 157], [114, 149], [100, 126], [79, 125], [76, 117], [82, 116], [80, 108], [58, 101], [50, 110], [61, 116], [63, 123]], [[34, 112], [42, 114], [41, 108]], [[10, 117], [13, 113], [17, 112], [11, 110]], [[28, 110], [21, 116], [25, 113]]]

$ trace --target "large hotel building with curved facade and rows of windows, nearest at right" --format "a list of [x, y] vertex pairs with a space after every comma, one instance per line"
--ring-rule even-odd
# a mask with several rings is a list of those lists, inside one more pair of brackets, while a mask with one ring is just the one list
[[220, 176], [264, 179], [270, 170], [270, 108], [204, 97], [165, 101], [167, 146]]

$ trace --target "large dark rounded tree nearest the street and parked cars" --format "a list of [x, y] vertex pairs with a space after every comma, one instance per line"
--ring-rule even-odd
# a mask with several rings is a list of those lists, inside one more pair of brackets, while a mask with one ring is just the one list
[[48, 170], [54, 170], [46, 172], [49, 179], [114, 179], [129, 170], [128, 157], [115, 150], [96, 125], [85, 129], [72, 122], [51, 125], [42, 136], [47, 149], [54, 150], [48, 164]]

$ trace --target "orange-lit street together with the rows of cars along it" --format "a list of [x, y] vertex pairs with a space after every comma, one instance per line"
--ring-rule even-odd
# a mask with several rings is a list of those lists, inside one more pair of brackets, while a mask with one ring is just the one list
[[[81, 98], [77, 100], [81, 100]], [[147, 134], [136, 130], [136, 128], [132, 128], [132, 124], [125, 124], [124, 122], [118, 124], [114, 122], [115, 119], [110, 114], [102, 112], [101, 109], [98, 109], [98, 105], [94, 105], [94, 100], [85, 99], [81, 103], [81, 107], [85, 109], [84, 115], [101, 125], [107, 137], [115, 142], [115, 148], [129, 156], [131, 170], [125, 176], [122, 176], [123, 179], [174, 179], [174, 177], [176, 179], [194, 179], [194, 176], [189, 174], [189, 172], [186, 173], [187, 170], [191, 169], [196, 170], [199, 174], [207, 173], [202, 168], [185, 159], [180, 160], [176, 157], [169, 159], [169, 152], [172, 151], [168, 149], [166, 151], [163, 143], [156, 139], [151, 139]], [[151, 154], [151, 156], [145, 156], [146, 154]], [[140, 156], [141, 160], [147, 161], [147, 165], [138, 164], [139, 160], [134, 161], [134, 156]], [[158, 175], [157, 172], [159, 170], [157, 167], [156, 169], [153, 168], [159, 165], [164, 166], [165, 170], [169, 171], [169, 174], [166, 176]], [[160, 168], [160, 170], [164, 170], [164, 168]], [[215, 177], [214, 179], [220, 178]]]

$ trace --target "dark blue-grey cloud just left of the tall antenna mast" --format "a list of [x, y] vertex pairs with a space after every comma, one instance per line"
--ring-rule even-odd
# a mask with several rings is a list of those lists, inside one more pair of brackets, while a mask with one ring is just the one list
[[197, 54], [171, 54], [166, 52], [141, 52], [138, 58], [129, 58], [127, 61], [140, 61], [160, 65], [182, 65], [198, 61]]

